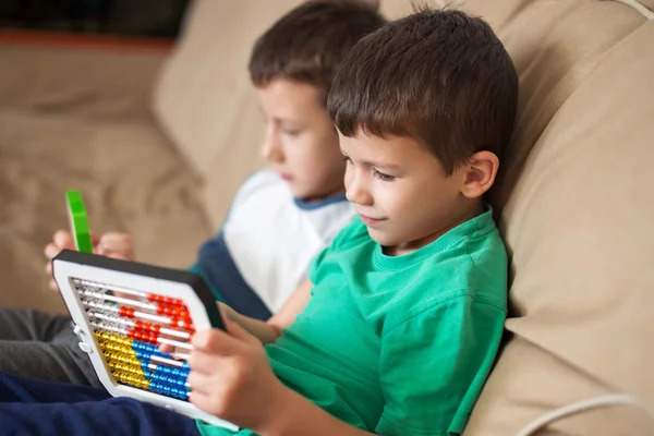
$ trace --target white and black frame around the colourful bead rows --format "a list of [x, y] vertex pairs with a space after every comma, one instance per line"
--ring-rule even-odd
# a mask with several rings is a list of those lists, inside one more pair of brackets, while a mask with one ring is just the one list
[[156, 267], [135, 262], [112, 259], [89, 253], [64, 250], [52, 259], [55, 280], [80, 337], [80, 347], [88, 353], [93, 367], [107, 391], [113, 397], [131, 397], [174, 410], [213, 425], [238, 429], [238, 426], [197, 409], [189, 401], [118, 383], [112, 376], [94, 334], [88, 314], [73, 280], [104, 283], [117, 289], [155, 293], [182, 300], [189, 308], [195, 330], [225, 328], [215, 299], [202, 277], [183, 270]]

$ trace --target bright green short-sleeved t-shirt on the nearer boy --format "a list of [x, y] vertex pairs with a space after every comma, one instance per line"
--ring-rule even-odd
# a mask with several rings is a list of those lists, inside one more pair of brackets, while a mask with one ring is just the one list
[[[266, 347], [279, 379], [367, 432], [460, 434], [507, 311], [507, 255], [492, 211], [395, 257], [356, 218], [308, 276], [308, 304]], [[207, 436], [232, 434], [198, 427]]]

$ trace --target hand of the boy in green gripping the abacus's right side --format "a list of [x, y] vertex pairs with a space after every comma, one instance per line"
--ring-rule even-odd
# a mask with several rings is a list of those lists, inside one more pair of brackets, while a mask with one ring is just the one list
[[283, 410], [287, 388], [272, 373], [262, 342], [223, 320], [228, 332], [211, 329], [193, 336], [191, 402], [242, 427], [261, 428]]

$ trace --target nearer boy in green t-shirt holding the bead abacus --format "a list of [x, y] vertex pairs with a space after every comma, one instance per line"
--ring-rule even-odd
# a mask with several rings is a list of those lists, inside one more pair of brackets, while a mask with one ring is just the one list
[[[191, 401], [241, 435], [460, 434], [506, 316], [507, 256], [482, 196], [517, 97], [502, 45], [462, 12], [421, 11], [362, 39], [328, 97], [359, 218], [268, 323], [222, 306], [227, 332], [194, 336]], [[0, 383], [14, 401], [0, 419], [16, 432], [34, 416], [93, 433], [101, 415], [137, 423], [131, 434], [232, 434], [134, 400], [38, 403], [51, 388]], [[80, 389], [58, 399], [97, 395]]]

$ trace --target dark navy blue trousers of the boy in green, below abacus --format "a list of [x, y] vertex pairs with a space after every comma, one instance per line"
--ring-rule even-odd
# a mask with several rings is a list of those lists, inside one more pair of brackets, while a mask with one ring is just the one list
[[193, 435], [195, 421], [104, 389], [0, 374], [2, 435]]

